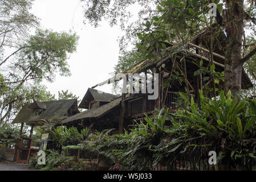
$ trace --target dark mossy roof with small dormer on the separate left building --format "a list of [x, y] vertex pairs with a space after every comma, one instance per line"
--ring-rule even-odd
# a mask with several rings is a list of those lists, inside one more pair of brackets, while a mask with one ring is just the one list
[[[46, 119], [50, 119], [52, 117], [64, 117], [67, 113], [67, 110], [77, 102], [76, 99], [71, 100], [59, 100], [59, 101], [47, 101], [47, 102], [36, 102], [40, 107], [45, 106], [45, 110], [43, 110], [42, 114], [34, 116], [34, 103], [26, 104], [19, 111], [18, 115], [15, 117], [12, 123], [29, 123], [36, 121], [44, 121]], [[36, 108], [38, 109], [38, 108]]]

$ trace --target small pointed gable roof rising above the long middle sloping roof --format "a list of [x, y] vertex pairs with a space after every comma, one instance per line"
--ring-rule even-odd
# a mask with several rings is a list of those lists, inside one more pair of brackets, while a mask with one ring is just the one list
[[100, 90], [88, 88], [83, 100], [79, 104], [79, 107], [83, 109], [88, 109], [89, 103], [92, 100], [100, 102], [111, 102], [115, 97], [117, 96], [110, 93], [102, 92]]

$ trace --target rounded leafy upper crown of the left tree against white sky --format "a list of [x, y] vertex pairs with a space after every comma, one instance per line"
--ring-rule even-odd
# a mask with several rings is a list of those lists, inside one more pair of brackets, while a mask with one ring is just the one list
[[35, 35], [22, 44], [18, 62], [11, 67], [19, 72], [19, 76], [14, 77], [15, 81], [22, 82], [24, 76], [26, 79], [32, 77], [34, 81], [42, 81], [43, 78], [52, 81], [56, 71], [62, 76], [69, 76], [67, 56], [75, 52], [77, 41], [75, 33], [37, 30]]

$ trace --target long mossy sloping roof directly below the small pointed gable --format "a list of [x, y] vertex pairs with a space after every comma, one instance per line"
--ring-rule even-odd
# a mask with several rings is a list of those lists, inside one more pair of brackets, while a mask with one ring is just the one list
[[118, 106], [120, 104], [120, 101], [121, 101], [121, 97], [116, 98], [115, 100], [109, 102], [108, 104], [100, 106], [96, 109], [90, 109], [90, 110], [83, 111], [82, 113], [72, 115], [71, 117], [68, 117], [68, 118], [64, 119], [62, 121], [62, 123], [67, 123], [67, 122], [76, 121], [76, 120], [85, 119], [85, 118], [100, 118], [100, 117], [103, 117], [111, 109]]

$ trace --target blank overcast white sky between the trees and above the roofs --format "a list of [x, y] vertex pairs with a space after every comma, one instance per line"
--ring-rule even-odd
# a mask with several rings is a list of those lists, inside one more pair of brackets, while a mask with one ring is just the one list
[[[83, 98], [88, 88], [110, 78], [110, 72], [119, 56], [119, 27], [111, 28], [107, 22], [94, 28], [83, 23], [83, 9], [79, 0], [35, 0], [32, 13], [41, 19], [42, 27], [54, 31], [75, 31], [79, 44], [68, 60], [72, 76], [56, 75], [53, 83], [43, 82], [48, 90], [58, 96], [58, 91], [69, 90]], [[96, 89], [111, 93], [111, 85]]]

